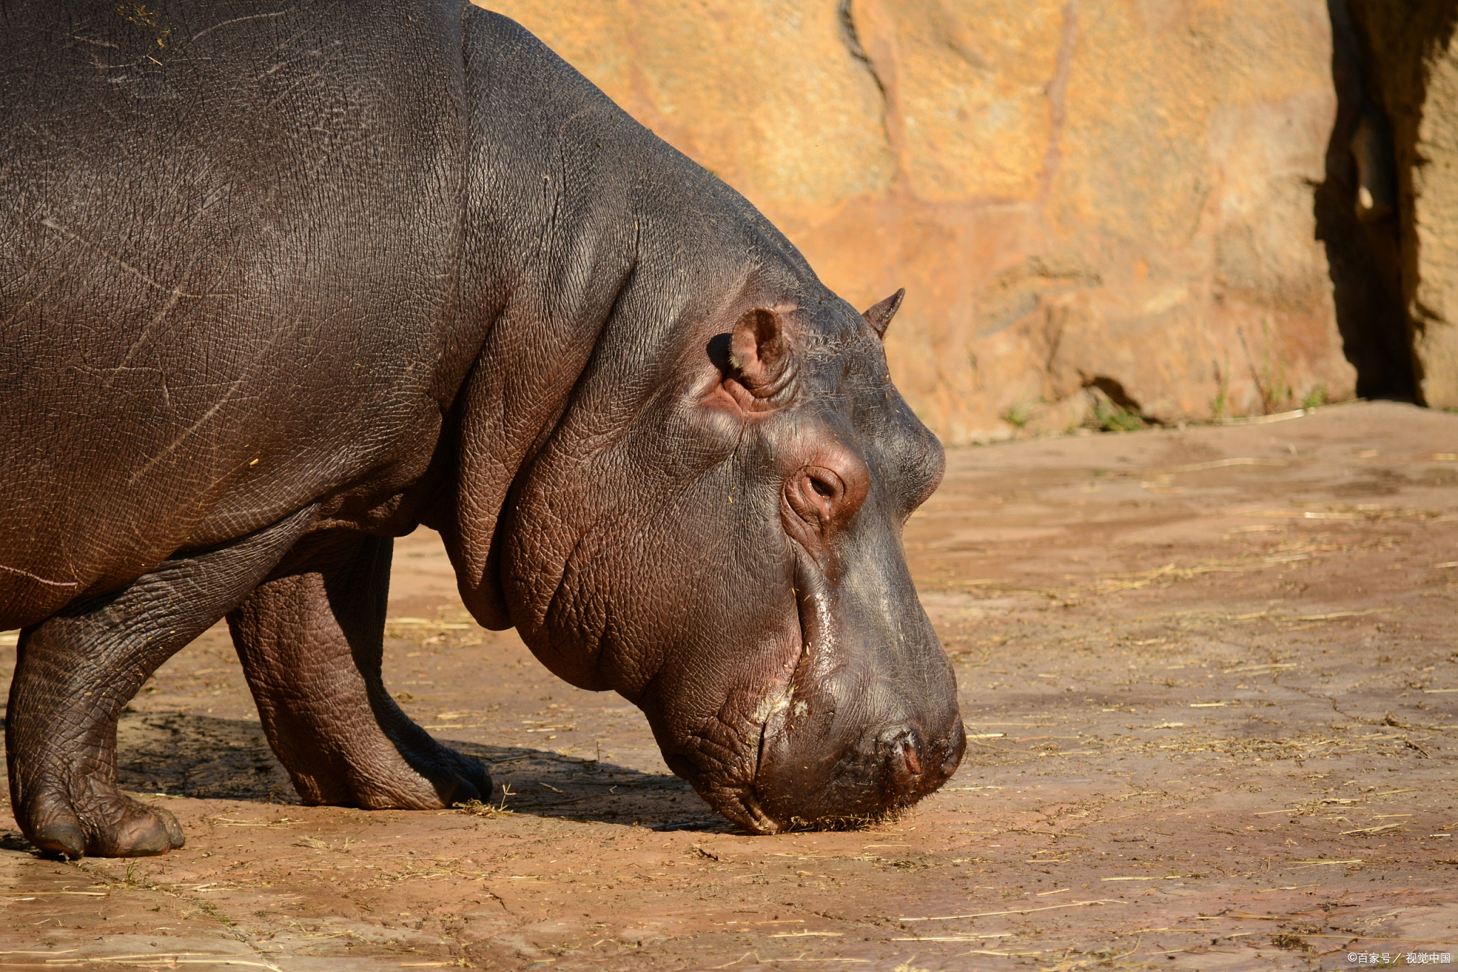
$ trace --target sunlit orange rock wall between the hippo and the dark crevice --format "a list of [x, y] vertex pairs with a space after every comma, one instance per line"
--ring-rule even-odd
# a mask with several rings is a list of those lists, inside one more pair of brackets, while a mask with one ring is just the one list
[[948, 443], [1350, 398], [1322, 0], [496, 0], [869, 306]]

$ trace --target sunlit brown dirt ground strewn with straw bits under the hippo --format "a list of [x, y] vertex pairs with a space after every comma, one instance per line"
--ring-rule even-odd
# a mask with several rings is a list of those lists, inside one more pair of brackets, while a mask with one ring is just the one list
[[1458, 952], [1458, 415], [1379, 402], [961, 450], [905, 541], [972, 745], [900, 822], [735, 832], [634, 708], [467, 624], [416, 533], [388, 681], [491, 764], [504, 812], [299, 806], [214, 630], [121, 724], [124, 787], [165, 800], [187, 847], [44, 860], [0, 810], [0, 969]]

